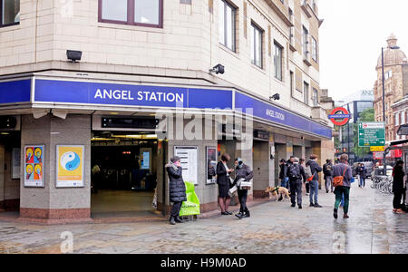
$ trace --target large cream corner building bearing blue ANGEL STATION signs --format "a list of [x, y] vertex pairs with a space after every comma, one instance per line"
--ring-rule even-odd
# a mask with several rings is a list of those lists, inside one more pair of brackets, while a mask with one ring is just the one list
[[[185, 180], [196, 183], [202, 211], [218, 207], [207, 164], [222, 152], [255, 170], [249, 199], [277, 184], [278, 159], [334, 156], [319, 102], [316, 1], [5, 3], [0, 165], [11, 167], [0, 172], [0, 205], [19, 208], [22, 219], [142, 214], [156, 186], [162, 210], [170, 206], [162, 166], [176, 153], [187, 158]], [[82, 59], [70, 62], [67, 50]], [[209, 73], [217, 64], [225, 73]], [[191, 129], [200, 115], [210, 121]], [[180, 133], [198, 127], [209, 137]], [[92, 179], [100, 192], [91, 192]], [[126, 201], [135, 209], [116, 206]]]

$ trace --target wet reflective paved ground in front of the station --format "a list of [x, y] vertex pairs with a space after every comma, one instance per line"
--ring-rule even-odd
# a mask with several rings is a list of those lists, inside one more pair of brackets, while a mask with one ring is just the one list
[[[367, 182], [371, 184], [371, 181]], [[38, 226], [0, 221], [0, 253], [406, 253], [408, 215], [392, 211], [393, 196], [351, 190], [350, 219], [333, 218], [334, 194], [319, 192], [323, 209], [270, 201], [251, 218]], [[307, 204], [307, 205], [306, 205]]]

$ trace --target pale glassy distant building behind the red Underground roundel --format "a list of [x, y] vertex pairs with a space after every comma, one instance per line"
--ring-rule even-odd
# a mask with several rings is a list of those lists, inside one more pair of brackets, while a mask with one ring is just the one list
[[367, 109], [373, 108], [373, 102], [373, 90], [355, 92], [345, 97], [344, 100], [335, 102], [336, 107], [343, 107], [352, 115], [349, 123], [343, 126], [339, 131], [339, 143], [335, 146], [336, 156], [347, 153], [351, 162], [373, 159], [373, 156], [371, 154], [367, 154], [363, 158], [357, 158], [357, 156], [355, 155], [355, 131], [353, 125], [359, 121], [360, 114], [362, 112]]

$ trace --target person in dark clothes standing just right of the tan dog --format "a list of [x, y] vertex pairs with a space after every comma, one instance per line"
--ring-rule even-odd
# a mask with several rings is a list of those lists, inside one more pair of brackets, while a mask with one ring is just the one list
[[306, 180], [306, 173], [304, 168], [299, 164], [299, 159], [294, 158], [293, 164], [287, 169], [287, 176], [290, 182], [290, 201], [292, 202], [292, 207], [297, 206], [302, 209], [302, 178]]

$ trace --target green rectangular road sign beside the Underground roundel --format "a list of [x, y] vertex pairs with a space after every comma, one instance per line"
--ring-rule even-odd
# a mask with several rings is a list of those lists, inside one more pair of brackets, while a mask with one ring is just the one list
[[385, 125], [383, 121], [367, 121], [358, 123], [359, 147], [384, 147]]

